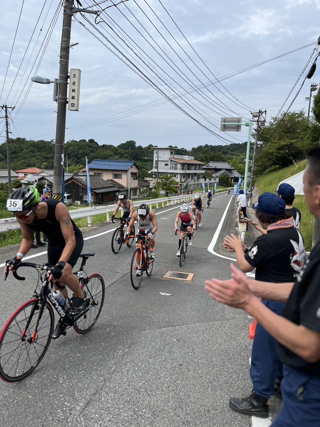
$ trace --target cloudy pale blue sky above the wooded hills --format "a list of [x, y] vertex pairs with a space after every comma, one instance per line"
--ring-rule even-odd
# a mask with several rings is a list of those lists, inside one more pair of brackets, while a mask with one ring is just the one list
[[[71, 44], [79, 44], [70, 49], [70, 67], [81, 70], [81, 92], [79, 111], [67, 111], [66, 141], [135, 140], [187, 149], [221, 144], [218, 137], [246, 141], [247, 128], [220, 132], [221, 117], [249, 120], [250, 111], [261, 108], [270, 120], [317, 55], [320, 0], [128, 0], [116, 7], [116, 0], [80, 1], [100, 14], [77, 13], [72, 22]], [[0, 105], [15, 106], [12, 137], [55, 138], [53, 85], [31, 84], [30, 78], [58, 77], [61, 3], [2, 1]], [[308, 111], [305, 97], [319, 81], [320, 64], [291, 110]]]

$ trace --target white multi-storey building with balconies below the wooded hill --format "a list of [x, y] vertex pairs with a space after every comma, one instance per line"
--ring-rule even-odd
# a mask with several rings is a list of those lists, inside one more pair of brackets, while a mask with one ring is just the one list
[[155, 176], [170, 174], [183, 189], [195, 190], [205, 182], [203, 178], [204, 163], [189, 155], [175, 155], [174, 148], [154, 147], [153, 169]]

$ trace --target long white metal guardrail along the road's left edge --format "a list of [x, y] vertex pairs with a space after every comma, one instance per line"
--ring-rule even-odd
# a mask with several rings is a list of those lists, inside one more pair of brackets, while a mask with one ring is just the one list
[[[204, 197], [205, 194], [201, 193], [201, 197]], [[166, 204], [167, 206], [170, 205], [176, 205], [179, 202], [186, 202], [188, 200], [192, 200], [194, 197], [194, 194], [189, 194], [186, 196], [174, 196], [174, 197], [164, 197], [162, 199], [150, 199], [150, 200], [144, 200], [139, 202], [133, 202], [134, 207], [140, 206], [141, 203], [145, 203], [146, 205], [150, 205], [150, 209], [152, 205], [157, 205], [157, 209], [159, 208], [159, 205], [162, 205], [160, 207], [164, 207]], [[94, 215], [101, 215], [102, 213], [106, 214], [107, 221], [110, 221], [110, 213], [114, 212], [116, 208], [115, 205], [105, 205], [105, 206], [97, 206], [94, 208], [81, 208], [81, 209], [75, 209], [74, 211], [70, 211], [71, 219], [79, 219], [79, 218], [85, 218], [88, 217], [88, 226], [91, 227], [92, 221], [91, 216]], [[121, 209], [122, 211], [122, 209]], [[122, 211], [123, 212], [123, 211]], [[20, 230], [20, 225], [17, 222], [17, 219], [14, 218], [4, 218], [0, 219], [0, 233], [5, 233], [6, 231], [14, 231], [14, 230]]]

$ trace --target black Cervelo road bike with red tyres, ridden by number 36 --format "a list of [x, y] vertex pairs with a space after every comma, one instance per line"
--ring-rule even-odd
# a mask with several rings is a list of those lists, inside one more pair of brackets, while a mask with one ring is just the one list
[[[38, 283], [32, 299], [21, 305], [6, 322], [0, 333], [0, 378], [8, 383], [23, 380], [38, 366], [46, 354], [54, 329], [54, 310], [58, 313], [60, 325], [68, 329], [73, 326], [79, 334], [87, 333], [98, 320], [105, 299], [105, 283], [101, 275], [87, 276], [84, 266], [94, 252], [80, 255], [80, 269], [73, 272], [79, 278], [81, 289], [87, 293], [86, 306], [77, 316], [70, 316], [68, 308], [61, 307], [52, 295], [53, 281], [48, 280], [50, 264], [21, 262], [12, 271], [17, 280], [25, 280], [17, 274], [21, 267], [38, 271]], [[9, 271], [6, 274], [6, 278]], [[5, 280], [6, 280], [5, 278]], [[37, 288], [40, 285], [40, 292]], [[64, 330], [63, 335], [66, 332]]]

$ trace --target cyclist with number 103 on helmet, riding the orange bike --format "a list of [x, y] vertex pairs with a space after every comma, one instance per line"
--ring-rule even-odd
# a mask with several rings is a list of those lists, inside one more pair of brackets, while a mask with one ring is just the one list
[[131, 216], [127, 233], [125, 234], [125, 239], [130, 236], [134, 221], [137, 221], [139, 225], [139, 234], [148, 236], [151, 245], [150, 258], [154, 258], [154, 245], [156, 243], [154, 240], [154, 234], [158, 229], [156, 214], [154, 211], [150, 211], [149, 206], [145, 203], [140, 205], [138, 210]]

